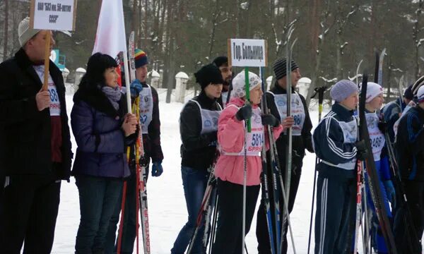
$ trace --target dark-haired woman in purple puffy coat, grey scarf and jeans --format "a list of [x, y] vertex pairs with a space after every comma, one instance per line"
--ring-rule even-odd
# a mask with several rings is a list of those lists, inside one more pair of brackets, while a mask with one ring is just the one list
[[73, 96], [71, 126], [78, 147], [72, 174], [81, 212], [75, 253], [103, 252], [110, 217], [130, 174], [125, 151], [134, 143], [137, 121], [127, 114], [116, 67], [106, 54], [90, 56]]

